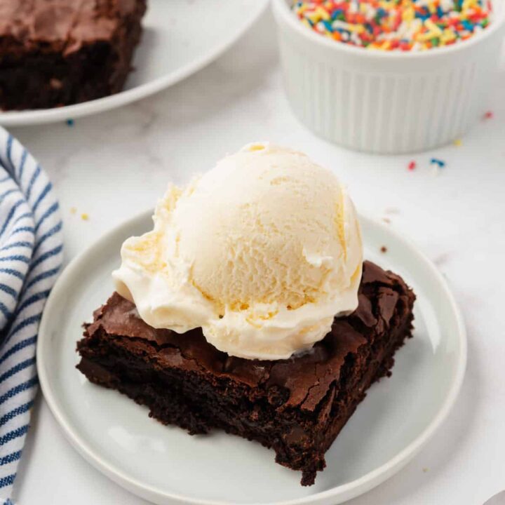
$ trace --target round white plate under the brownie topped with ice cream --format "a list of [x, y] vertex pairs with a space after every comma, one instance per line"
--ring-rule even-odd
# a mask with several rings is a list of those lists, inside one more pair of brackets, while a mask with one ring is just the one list
[[[397, 271], [417, 294], [415, 337], [393, 376], [374, 384], [326, 454], [316, 485], [274, 463], [260, 444], [216, 432], [189, 436], [147, 408], [90, 384], [75, 369], [81, 324], [113, 291], [121, 243], [152, 228], [150, 213], [122, 224], [77, 257], [53, 288], [41, 321], [37, 365], [46, 401], [88, 462], [156, 504], [335, 505], [405, 465], [447, 416], [466, 364], [462, 318], [442, 276], [412, 245], [362, 218], [368, 259]], [[385, 245], [387, 253], [380, 253]]]

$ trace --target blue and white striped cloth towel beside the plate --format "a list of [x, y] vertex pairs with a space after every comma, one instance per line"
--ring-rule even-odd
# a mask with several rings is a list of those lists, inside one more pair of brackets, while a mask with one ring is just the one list
[[0, 503], [11, 503], [37, 377], [39, 321], [62, 264], [62, 222], [48, 177], [0, 128]]

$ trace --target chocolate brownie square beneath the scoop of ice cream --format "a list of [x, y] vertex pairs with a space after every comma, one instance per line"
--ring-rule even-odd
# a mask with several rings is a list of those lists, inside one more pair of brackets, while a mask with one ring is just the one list
[[302, 485], [311, 485], [370, 384], [390, 375], [396, 349], [412, 334], [414, 300], [402, 278], [365, 262], [351, 316], [335, 318], [309, 352], [257, 361], [218, 351], [199, 329], [156, 330], [114, 293], [85, 325], [77, 368], [164, 424], [191, 434], [224, 429], [272, 447], [276, 462], [301, 470]]

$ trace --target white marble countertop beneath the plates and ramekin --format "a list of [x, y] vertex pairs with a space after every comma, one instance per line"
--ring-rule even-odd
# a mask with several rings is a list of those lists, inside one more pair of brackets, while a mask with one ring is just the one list
[[[67, 262], [121, 221], [253, 140], [297, 147], [349, 184], [361, 213], [389, 217], [447, 276], [469, 330], [469, 363], [450, 417], [396, 476], [352, 505], [476, 504], [505, 488], [505, 59], [494, 118], [415, 156], [370, 156], [314, 137], [283, 94], [267, 13], [219, 60], [135, 105], [87, 119], [15, 128], [60, 197]], [[485, 105], [483, 105], [483, 112]], [[433, 175], [432, 156], [447, 166]], [[410, 160], [416, 170], [407, 169]], [[76, 208], [73, 214], [71, 208]], [[89, 220], [82, 220], [87, 213]], [[63, 438], [39, 394], [16, 482], [18, 504], [146, 503], [93, 469]]]

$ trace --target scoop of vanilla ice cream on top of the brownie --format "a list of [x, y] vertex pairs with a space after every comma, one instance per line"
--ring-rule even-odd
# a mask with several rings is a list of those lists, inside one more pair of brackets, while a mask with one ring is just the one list
[[358, 305], [363, 246], [353, 203], [302, 153], [250, 144], [187, 187], [154, 230], [128, 238], [118, 292], [154, 328], [201, 327], [231, 356], [289, 358]]

